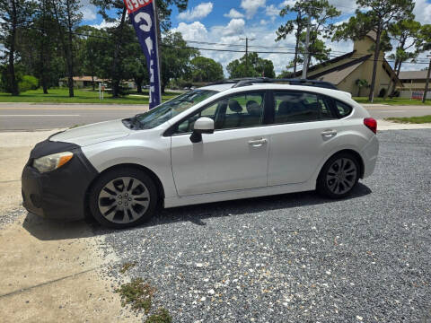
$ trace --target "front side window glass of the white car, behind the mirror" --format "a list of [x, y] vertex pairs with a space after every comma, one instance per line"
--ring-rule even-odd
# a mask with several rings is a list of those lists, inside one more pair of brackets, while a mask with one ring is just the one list
[[233, 94], [210, 104], [189, 116], [177, 127], [175, 134], [193, 131], [195, 121], [201, 117], [212, 118], [215, 129], [257, 127], [262, 125], [265, 92]]

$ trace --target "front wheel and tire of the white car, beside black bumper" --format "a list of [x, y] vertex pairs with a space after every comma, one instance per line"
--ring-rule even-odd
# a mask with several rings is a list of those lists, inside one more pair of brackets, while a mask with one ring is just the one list
[[135, 168], [108, 170], [92, 185], [90, 211], [101, 225], [125, 229], [150, 220], [158, 205], [154, 180]]

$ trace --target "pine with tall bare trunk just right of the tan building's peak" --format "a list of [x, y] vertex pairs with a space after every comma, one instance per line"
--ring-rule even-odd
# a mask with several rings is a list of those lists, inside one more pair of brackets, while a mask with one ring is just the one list
[[411, 0], [356, 0], [356, 4], [356, 16], [339, 25], [333, 39], [363, 39], [368, 32], [375, 32], [373, 74], [368, 95], [368, 100], [373, 102], [383, 31], [403, 20], [406, 13], [413, 11], [415, 4]]

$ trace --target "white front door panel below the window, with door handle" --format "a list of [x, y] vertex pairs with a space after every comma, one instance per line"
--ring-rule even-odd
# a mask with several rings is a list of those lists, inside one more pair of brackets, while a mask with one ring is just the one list
[[219, 130], [202, 135], [197, 144], [190, 142], [189, 134], [173, 135], [172, 172], [178, 195], [265, 187], [267, 135], [266, 127]]

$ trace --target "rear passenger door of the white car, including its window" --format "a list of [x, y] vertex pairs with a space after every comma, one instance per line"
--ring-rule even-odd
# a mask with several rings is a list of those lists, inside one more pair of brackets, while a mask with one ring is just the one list
[[268, 186], [303, 183], [335, 147], [340, 121], [330, 99], [298, 91], [274, 93]]

